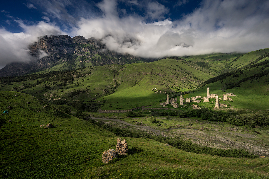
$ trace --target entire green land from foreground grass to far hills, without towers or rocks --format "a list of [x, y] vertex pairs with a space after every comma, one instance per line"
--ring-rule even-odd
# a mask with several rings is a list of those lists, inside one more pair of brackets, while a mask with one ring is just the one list
[[[48, 73], [1, 77], [1, 109], [13, 109], [0, 117], [0, 178], [14, 178], [13, 173], [18, 178], [268, 178], [268, 158], [217, 157], [268, 156], [268, 52], [99, 67], [82, 64], [76, 70], [55, 67]], [[166, 93], [178, 101], [180, 92], [183, 98], [203, 97], [207, 86], [213, 94], [234, 93], [232, 101], [220, 100], [232, 109], [213, 110], [214, 99], [179, 109], [165, 107], [173, 110], [137, 109], [160, 108]], [[192, 104], [202, 109], [192, 110]], [[132, 108], [137, 110], [97, 112]], [[96, 123], [90, 115], [139, 122], [167, 138], [134, 127], [113, 127], [111, 122]], [[55, 127], [39, 127], [47, 123]], [[115, 148], [118, 137], [126, 137], [132, 155], [102, 164], [102, 152]], [[22, 167], [26, 170], [19, 173]], [[122, 177], [126, 172], [130, 176]]]

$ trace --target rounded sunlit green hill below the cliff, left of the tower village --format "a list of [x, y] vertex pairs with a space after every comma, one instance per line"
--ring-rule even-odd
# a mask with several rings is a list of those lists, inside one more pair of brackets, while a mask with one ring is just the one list
[[[154, 88], [163, 92], [189, 91], [195, 89], [201, 81], [215, 75], [214, 72], [196, 64], [174, 59], [162, 59], [151, 63], [87, 67], [80, 71], [86, 72], [87, 75], [75, 78], [73, 85], [65, 86], [63, 89], [48, 82], [46, 84], [50, 84], [51, 89], [44, 91], [43, 87], [46, 84], [40, 84], [30, 89], [24, 89], [23, 92], [49, 100], [58, 98], [86, 101], [107, 100], [108, 105], [102, 107], [104, 110], [115, 110], [117, 107], [130, 109], [136, 106], [159, 105], [159, 100], [166, 98], [166, 94], [155, 94], [155, 91], [152, 91]], [[23, 83], [34, 82], [36, 81], [14, 82], [1, 87], [1, 90], [9, 91], [13, 87], [19, 88]], [[104, 96], [104, 90], [110, 88], [108, 90], [111, 91], [111, 87], [116, 87], [116, 93]], [[86, 88], [90, 91], [68, 97], [72, 91]], [[109, 107], [110, 105], [112, 107]]]

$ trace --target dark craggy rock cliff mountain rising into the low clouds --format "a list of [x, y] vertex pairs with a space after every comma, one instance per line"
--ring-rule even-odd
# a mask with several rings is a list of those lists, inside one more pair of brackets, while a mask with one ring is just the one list
[[[105, 64], [129, 64], [137, 61], [150, 62], [155, 59], [143, 59], [130, 54], [118, 54], [105, 49], [105, 45], [94, 38], [68, 35], [44, 36], [29, 46], [30, 62], [14, 62], [0, 70], [0, 76], [19, 76], [33, 71], [43, 70], [66, 62], [68, 69]], [[79, 66], [78, 66], [79, 64]]]

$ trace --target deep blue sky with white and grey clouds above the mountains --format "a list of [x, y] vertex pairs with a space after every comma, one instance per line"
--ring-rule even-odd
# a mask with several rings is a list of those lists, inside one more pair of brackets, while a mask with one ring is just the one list
[[33, 60], [30, 44], [60, 34], [144, 58], [250, 52], [269, 48], [269, 1], [2, 1], [0, 68]]

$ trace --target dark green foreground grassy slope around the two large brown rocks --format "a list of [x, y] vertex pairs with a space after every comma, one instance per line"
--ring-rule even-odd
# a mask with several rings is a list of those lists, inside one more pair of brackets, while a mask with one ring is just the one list
[[[117, 136], [89, 122], [43, 108], [37, 98], [1, 91], [0, 178], [268, 178], [268, 158], [233, 159], [191, 154], [143, 138], [126, 138], [130, 155], [109, 164], [102, 152]], [[14, 97], [18, 95], [18, 97]], [[26, 102], [30, 102], [27, 104]], [[28, 108], [31, 108], [30, 110]], [[39, 112], [40, 111], [40, 112]], [[39, 127], [52, 123], [54, 128]], [[23, 168], [23, 170], [22, 170]]]

